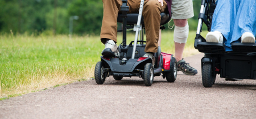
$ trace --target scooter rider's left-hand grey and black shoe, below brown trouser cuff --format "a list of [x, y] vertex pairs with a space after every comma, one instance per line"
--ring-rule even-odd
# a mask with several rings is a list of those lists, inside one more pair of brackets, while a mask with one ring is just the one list
[[102, 50], [102, 56], [107, 57], [118, 57], [119, 51], [117, 50], [118, 46], [115, 44], [113, 40], [109, 40], [108, 43], [105, 44], [105, 49]]

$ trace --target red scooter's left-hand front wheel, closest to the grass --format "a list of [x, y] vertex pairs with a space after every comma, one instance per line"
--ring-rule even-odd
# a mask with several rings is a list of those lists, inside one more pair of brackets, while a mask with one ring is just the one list
[[103, 84], [105, 82], [106, 77], [101, 73], [102, 69], [104, 69], [103, 62], [97, 62], [94, 70], [94, 77], [97, 84]]

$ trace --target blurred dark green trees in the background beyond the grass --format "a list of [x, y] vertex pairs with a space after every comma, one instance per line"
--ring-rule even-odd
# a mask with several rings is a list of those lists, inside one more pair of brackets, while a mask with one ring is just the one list
[[[197, 28], [200, 5], [201, 0], [193, 0], [195, 16], [188, 20], [190, 30]], [[0, 32], [53, 35], [53, 21], [56, 21], [56, 33], [68, 34], [69, 17], [75, 15], [79, 19], [73, 21], [74, 34], [100, 34], [102, 0], [0, 0]], [[203, 25], [203, 30], [206, 28]]]

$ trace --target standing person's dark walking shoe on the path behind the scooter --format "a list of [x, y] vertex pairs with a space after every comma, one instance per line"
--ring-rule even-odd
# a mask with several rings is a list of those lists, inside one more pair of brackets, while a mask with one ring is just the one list
[[186, 63], [184, 59], [177, 62], [177, 71], [182, 71], [186, 75], [196, 75], [197, 70]]

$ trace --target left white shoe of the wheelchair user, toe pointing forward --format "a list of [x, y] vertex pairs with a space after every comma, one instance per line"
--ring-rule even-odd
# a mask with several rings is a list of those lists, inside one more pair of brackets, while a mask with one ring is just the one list
[[218, 43], [223, 42], [223, 36], [219, 31], [208, 32], [207, 37], [205, 37], [205, 39], [207, 42], [218, 42]]

